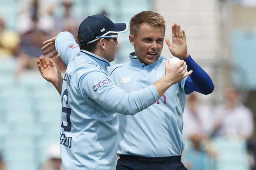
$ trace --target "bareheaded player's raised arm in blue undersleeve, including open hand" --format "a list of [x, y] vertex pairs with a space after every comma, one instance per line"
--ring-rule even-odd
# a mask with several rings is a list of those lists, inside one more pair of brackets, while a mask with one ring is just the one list
[[187, 63], [187, 71], [193, 70], [185, 81], [186, 94], [197, 91], [202, 94], [210, 94], [214, 90], [213, 81], [210, 76], [188, 55], [188, 47], [185, 30], [179, 24], [172, 25], [173, 43], [165, 39], [173, 56], [184, 60]]

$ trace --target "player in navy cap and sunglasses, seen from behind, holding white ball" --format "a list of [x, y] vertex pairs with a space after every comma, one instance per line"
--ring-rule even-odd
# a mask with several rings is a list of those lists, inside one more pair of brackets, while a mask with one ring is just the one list
[[[59, 33], [54, 40], [56, 51], [68, 65], [62, 86], [61, 81], [54, 83], [62, 95], [62, 170], [114, 170], [119, 127], [116, 112], [134, 115], [148, 108], [171, 85], [192, 73], [186, 72], [184, 61], [175, 66], [165, 64], [165, 76], [153, 85], [131, 93], [121, 90], [106, 67], [114, 60], [117, 33], [125, 30], [125, 23], [114, 24], [104, 15], [92, 15], [79, 27], [81, 51], [70, 33]], [[54, 62], [41, 56], [37, 64], [42, 76], [52, 81], [47, 73], [56, 68]]]

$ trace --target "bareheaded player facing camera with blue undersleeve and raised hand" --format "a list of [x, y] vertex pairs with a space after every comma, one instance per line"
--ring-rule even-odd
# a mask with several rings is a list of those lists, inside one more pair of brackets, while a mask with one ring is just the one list
[[[144, 11], [130, 20], [130, 43], [135, 52], [130, 62], [109, 68], [114, 83], [125, 91], [142, 89], [165, 74], [163, 49], [165, 21], [161, 15]], [[157, 103], [135, 116], [119, 115], [117, 170], [186, 170], [181, 162], [184, 150], [183, 111], [186, 94], [210, 94], [210, 76], [188, 54], [185, 31], [172, 26], [173, 43], [166, 43], [173, 56], [187, 63], [193, 73], [171, 86]], [[159, 114], [160, 113], [160, 114]], [[148, 116], [149, 115], [149, 116]]]

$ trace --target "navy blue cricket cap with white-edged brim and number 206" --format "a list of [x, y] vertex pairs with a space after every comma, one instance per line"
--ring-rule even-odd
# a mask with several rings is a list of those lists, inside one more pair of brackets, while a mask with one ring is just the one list
[[[127, 30], [126, 23], [113, 23], [108, 17], [96, 14], [85, 18], [79, 26], [78, 35], [82, 36], [82, 44], [93, 43], [108, 33], [123, 33]], [[81, 44], [80, 43], [80, 44]]]

